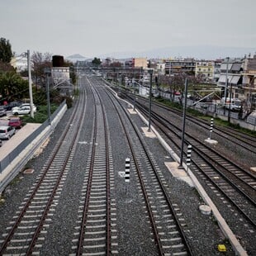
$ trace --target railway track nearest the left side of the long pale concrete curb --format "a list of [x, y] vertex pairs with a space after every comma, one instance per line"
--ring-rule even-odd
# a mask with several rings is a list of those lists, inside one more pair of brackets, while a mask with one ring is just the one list
[[[108, 97], [113, 96], [108, 93]], [[132, 164], [137, 173], [140, 189], [145, 199], [145, 206], [149, 216], [149, 222], [154, 235], [154, 243], [159, 255], [192, 255], [192, 249], [185, 235], [186, 222], [179, 212], [178, 206], [173, 205], [168, 197], [168, 189], [164, 185], [164, 176], [157, 168], [154, 156], [149, 154], [145, 143], [141, 139], [140, 132], [135, 128], [130, 116], [119, 103], [111, 99], [113, 106], [121, 121], [126, 140], [130, 146]], [[126, 113], [126, 121], [133, 126], [133, 132], [127, 130], [127, 123], [123, 114]]]

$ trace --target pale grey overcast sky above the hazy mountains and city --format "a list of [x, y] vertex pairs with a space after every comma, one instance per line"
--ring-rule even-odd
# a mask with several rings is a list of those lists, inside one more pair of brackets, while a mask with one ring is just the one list
[[183, 45], [256, 47], [255, 0], [0, 0], [12, 50], [81, 54]]

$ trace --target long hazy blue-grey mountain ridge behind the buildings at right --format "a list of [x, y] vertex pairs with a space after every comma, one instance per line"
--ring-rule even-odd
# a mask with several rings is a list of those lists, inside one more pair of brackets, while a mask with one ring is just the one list
[[154, 58], [195, 58], [195, 59], [223, 59], [243, 58], [244, 55], [254, 55], [255, 48], [250, 47], [225, 47], [214, 45], [197, 45], [197, 46], [173, 46], [164, 47], [154, 50], [145, 50], [140, 52], [114, 52], [101, 55], [101, 58], [113, 57], [116, 59], [146, 57]]

